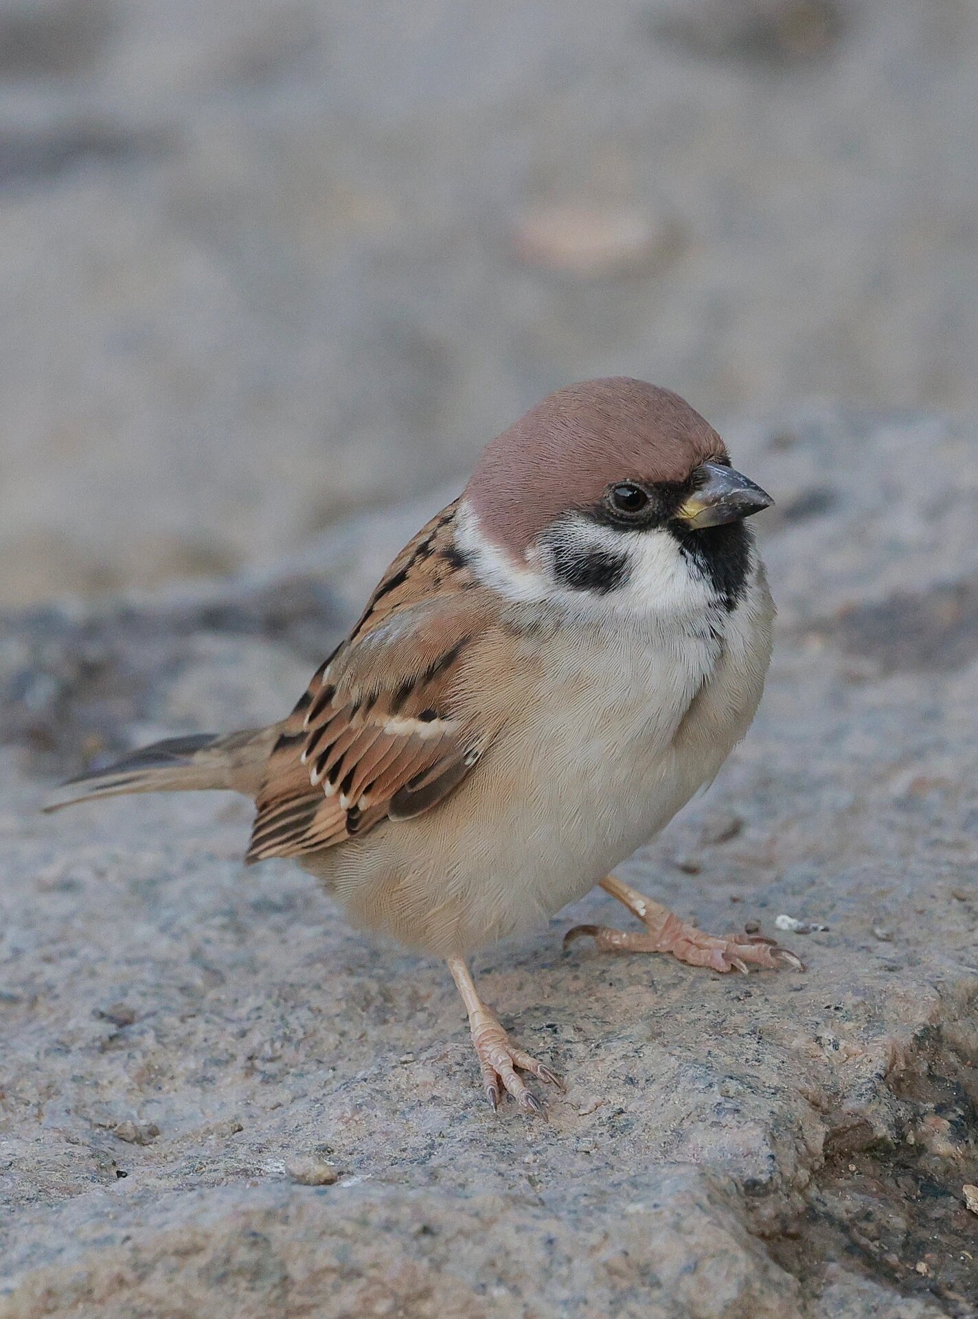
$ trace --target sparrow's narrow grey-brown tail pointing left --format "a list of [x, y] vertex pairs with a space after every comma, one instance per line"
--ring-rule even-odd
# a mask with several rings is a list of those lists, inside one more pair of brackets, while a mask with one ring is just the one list
[[224, 737], [216, 733], [167, 737], [123, 756], [107, 769], [69, 780], [45, 805], [45, 811], [123, 793], [182, 793], [211, 787], [254, 797], [281, 731], [281, 724], [272, 724], [269, 728], [245, 728]]

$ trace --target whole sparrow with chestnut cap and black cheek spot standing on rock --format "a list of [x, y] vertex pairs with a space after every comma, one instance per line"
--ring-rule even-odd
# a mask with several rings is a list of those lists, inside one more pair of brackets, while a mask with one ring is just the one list
[[293, 857], [353, 923], [444, 959], [492, 1108], [509, 1095], [546, 1115], [532, 1079], [564, 1083], [482, 1001], [475, 952], [600, 885], [642, 927], [576, 926], [565, 943], [714, 972], [801, 967], [610, 873], [713, 781], [754, 718], [774, 604], [746, 518], [772, 503], [670, 389], [560, 388], [490, 441], [287, 718], [136, 751], [47, 809], [252, 798], [246, 861]]

